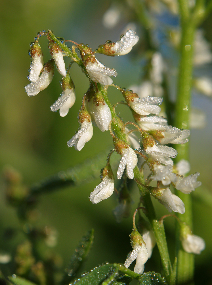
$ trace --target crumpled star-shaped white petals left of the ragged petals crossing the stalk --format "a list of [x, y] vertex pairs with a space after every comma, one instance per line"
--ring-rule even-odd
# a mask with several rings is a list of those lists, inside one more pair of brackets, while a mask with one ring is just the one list
[[177, 175], [172, 172], [172, 166], [155, 164], [154, 175], [151, 177], [152, 180], [161, 181], [164, 186], [169, 185], [171, 182], [177, 181]]

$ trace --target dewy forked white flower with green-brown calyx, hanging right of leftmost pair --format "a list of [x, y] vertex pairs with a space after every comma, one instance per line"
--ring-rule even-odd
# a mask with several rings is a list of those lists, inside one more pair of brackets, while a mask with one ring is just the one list
[[57, 101], [51, 105], [51, 111], [56, 112], [60, 109], [60, 116], [65, 117], [68, 114], [69, 109], [74, 105], [75, 102], [75, 92], [74, 92], [74, 83], [70, 78], [70, 75], [67, 74], [66, 77], [62, 79], [62, 94]]

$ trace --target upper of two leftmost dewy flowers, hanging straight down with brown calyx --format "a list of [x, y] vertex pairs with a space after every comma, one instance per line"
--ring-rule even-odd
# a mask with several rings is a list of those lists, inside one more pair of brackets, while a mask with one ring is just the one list
[[30, 48], [30, 56], [32, 62], [30, 64], [29, 80], [35, 82], [38, 80], [41, 70], [43, 68], [43, 53], [39, 42], [34, 42]]

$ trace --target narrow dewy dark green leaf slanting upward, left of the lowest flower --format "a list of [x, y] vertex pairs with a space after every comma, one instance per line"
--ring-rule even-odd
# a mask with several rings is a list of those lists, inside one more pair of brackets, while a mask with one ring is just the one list
[[88, 231], [85, 236], [82, 237], [79, 245], [75, 249], [74, 254], [72, 255], [70, 262], [65, 269], [66, 274], [62, 280], [62, 284], [70, 283], [73, 280], [73, 276], [75, 276], [76, 272], [79, 270], [82, 262], [85, 260], [89, 251], [93, 245], [94, 239], [94, 229]]

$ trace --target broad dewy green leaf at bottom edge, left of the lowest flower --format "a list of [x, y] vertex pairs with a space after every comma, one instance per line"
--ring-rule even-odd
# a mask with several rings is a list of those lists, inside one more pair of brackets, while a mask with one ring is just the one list
[[[100, 285], [102, 282], [106, 281], [108, 278], [112, 276], [115, 278], [115, 275], [118, 271], [118, 268], [115, 267], [113, 264], [104, 264], [98, 267], [93, 268], [90, 272], [84, 273], [84, 277], [75, 280], [74, 283], [70, 284], [77, 284], [77, 285]], [[107, 280], [105, 284], [111, 284], [111, 279]]]

